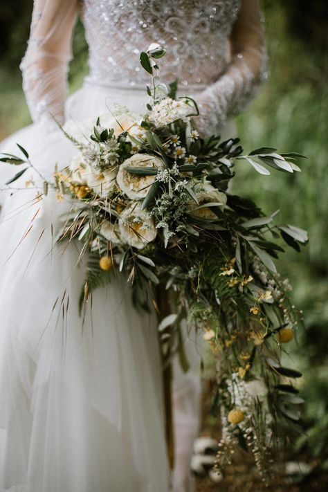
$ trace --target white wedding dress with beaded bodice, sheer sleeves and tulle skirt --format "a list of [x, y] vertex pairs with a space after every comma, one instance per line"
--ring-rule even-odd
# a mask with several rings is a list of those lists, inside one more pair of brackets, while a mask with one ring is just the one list
[[[71, 35], [82, 17], [90, 74], [66, 101]], [[78, 249], [55, 245], [69, 205], [34, 189], [76, 149], [54, 121], [109, 113], [114, 103], [142, 113], [147, 73], [139, 53], [167, 49], [161, 78], [200, 102], [203, 133], [221, 131], [265, 76], [257, 0], [35, 0], [21, 64], [33, 125], [1, 152], [30, 154], [33, 169], [12, 184], [0, 167], [0, 490], [11, 492], [176, 492], [192, 490], [198, 430], [199, 356], [174, 361], [175, 468], [167, 464], [161, 362], [154, 313], [138, 313], [125, 279], [93, 294], [78, 313]], [[14, 110], [14, 109], [13, 109]], [[29, 186], [24, 190], [24, 183]]]

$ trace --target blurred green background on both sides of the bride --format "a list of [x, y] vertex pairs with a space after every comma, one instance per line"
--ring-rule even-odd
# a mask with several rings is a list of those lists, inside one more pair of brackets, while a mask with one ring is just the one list
[[[19, 61], [26, 48], [30, 0], [11, 0], [0, 12], [0, 138], [30, 122], [21, 90]], [[19, 15], [17, 15], [19, 12]], [[304, 329], [289, 347], [304, 373], [307, 432], [295, 453], [328, 470], [328, 169], [327, 169], [327, 1], [267, 0], [264, 5], [270, 78], [259, 97], [237, 118], [246, 151], [259, 145], [295, 151], [308, 159], [302, 173], [259, 176], [239, 163], [234, 191], [255, 199], [266, 213], [280, 209], [280, 221], [309, 230], [300, 253], [286, 252], [280, 270], [294, 286], [304, 311]], [[79, 23], [73, 41], [70, 90], [87, 73], [87, 48]]]

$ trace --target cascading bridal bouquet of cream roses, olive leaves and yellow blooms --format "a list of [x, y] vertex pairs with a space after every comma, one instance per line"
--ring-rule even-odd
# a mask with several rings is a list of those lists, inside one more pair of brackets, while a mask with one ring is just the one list
[[[228, 185], [242, 160], [261, 174], [270, 174], [268, 167], [292, 173], [302, 156], [271, 147], [245, 155], [238, 138], [202, 136], [197, 102], [176, 100], [174, 84], [158, 83], [163, 55], [155, 44], [140, 55], [152, 78], [152, 103], [142, 118], [116, 109], [111, 120], [98, 118], [90, 138], [64, 127], [78, 155], [71, 167], [55, 170], [40, 196], [52, 187], [58, 200], [71, 202], [58, 241], [80, 242], [80, 259], [88, 257], [82, 311], [95, 289], [122, 273], [136, 308], [156, 304], [149, 286], [170, 295], [174, 313], [159, 325], [165, 362], [178, 352], [188, 369], [182, 320], [208, 341], [217, 361], [212, 410], [222, 423], [217, 468], [231, 462], [239, 443], [253, 452], [266, 480], [271, 448], [281, 436], [277, 423], [298, 421], [302, 403], [291, 382], [301, 374], [280, 364], [282, 344], [293, 338], [299, 316], [273, 258], [283, 252], [277, 239], [300, 250], [307, 234], [274, 225], [276, 213], [264, 215]], [[32, 165], [20, 148], [24, 158], [2, 161]]]

